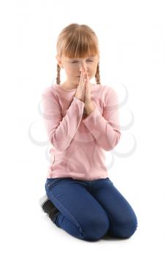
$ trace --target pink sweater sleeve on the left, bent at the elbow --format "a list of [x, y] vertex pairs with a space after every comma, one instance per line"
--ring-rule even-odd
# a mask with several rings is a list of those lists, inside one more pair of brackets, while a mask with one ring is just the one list
[[42, 116], [50, 143], [58, 150], [68, 148], [83, 116], [84, 102], [73, 97], [67, 113], [62, 118], [59, 98], [52, 91], [42, 94]]

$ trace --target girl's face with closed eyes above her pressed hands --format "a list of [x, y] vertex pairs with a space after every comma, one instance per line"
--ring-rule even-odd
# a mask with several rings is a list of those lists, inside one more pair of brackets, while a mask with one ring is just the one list
[[63, 66], [67, 75], [68, 83], [78, 85], [80, 81], [80, 72], [86, 70], [88, 79], [91, 80], [97, 72], [98, 56], [87, 56], [84, 59], [69, 59], [62, 57], [58, 59], [60, 67]]

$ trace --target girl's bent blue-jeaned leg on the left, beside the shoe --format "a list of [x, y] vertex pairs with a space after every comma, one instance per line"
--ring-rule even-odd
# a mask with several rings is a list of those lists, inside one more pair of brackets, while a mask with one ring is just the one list
[[59, 209], [54, 220], [58, 227], [86, 241], [97, 241], [105, 236], [109, 228], [107, 214], [81, 181], [47, 179], [45, 189], [48, 198]]

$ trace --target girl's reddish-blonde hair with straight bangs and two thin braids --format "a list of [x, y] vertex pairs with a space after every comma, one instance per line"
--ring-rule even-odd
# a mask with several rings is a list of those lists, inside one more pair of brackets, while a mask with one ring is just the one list
[[[99, 57], [99, 42], [97, 35], [89, 26], [71, 23], [59, 34], [56, 50], [59, 57], [66, 56], [69, 59], [84, 58], [87, 55], [97, 55]], [[60, 71], [61, 67], [57, 64], [57, 84], [61, 83]], [[95, 79], [97, 84], [100, 84], [99, 62]]]

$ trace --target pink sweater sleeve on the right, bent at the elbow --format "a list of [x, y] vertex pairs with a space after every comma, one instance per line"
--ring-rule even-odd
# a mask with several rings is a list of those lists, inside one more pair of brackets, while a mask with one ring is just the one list
[[118, 116], [118, 97], [116, 91], [109, 89], [106, 95], [106, 105], [101, 114], [94, 103], [95, 109], [83, 123], [105, 151], [113, 149], [121, 137]]

